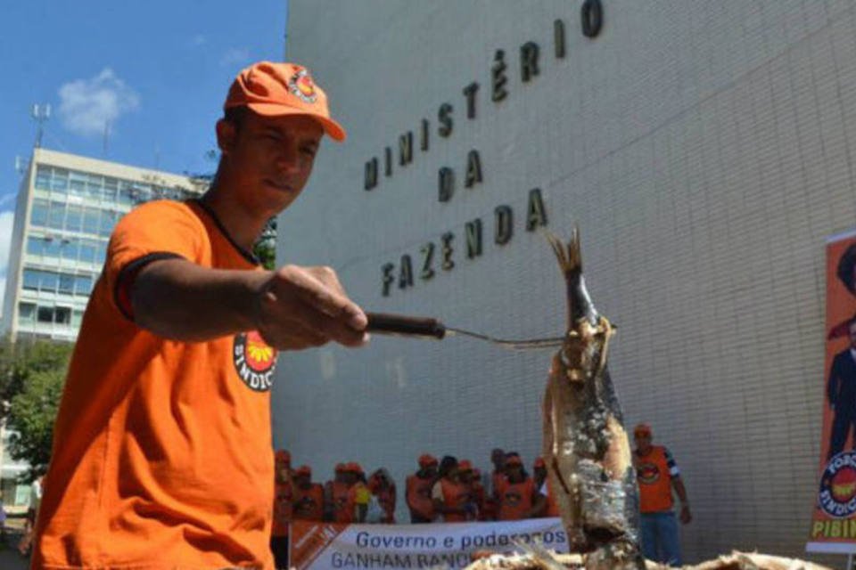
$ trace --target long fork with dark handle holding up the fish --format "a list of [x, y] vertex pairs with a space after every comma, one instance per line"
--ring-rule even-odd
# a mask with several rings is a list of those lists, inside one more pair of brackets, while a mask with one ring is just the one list
[[507, 348], [509, 350], [534, 350], [538, 348], [549, 348], [561, 346], [564, 337], [556, 338], [529, 338], [523, 340], [508, 340], [505, 338], [489, 337], [478, 332], [447, 327], [437, 319], [424, 317], [410, 317], [402, 314], [367, 313], [368, 332], [380, 334], [398, 335], [404, 337], [433, 338], [441, 340], [447, 336], [463, 335], [465, 337], [478, 338], [491, 344]]

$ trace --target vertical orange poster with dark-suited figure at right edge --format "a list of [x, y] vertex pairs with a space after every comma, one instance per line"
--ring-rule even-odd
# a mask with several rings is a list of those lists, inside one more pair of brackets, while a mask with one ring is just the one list
[[806, 550], [856, 552], [856, 231], [827, 239], [819, 485]]

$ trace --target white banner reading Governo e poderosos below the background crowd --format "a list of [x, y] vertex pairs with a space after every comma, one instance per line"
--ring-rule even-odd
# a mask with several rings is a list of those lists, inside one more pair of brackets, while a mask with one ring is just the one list
[[568, 551], [560, 518], [496, 523], [431, 525], [337, 525], [296, 521], [291, 566], [330, 568], [463, 568], [477, 550], [509, 552], [514, 542], [540, 542]]

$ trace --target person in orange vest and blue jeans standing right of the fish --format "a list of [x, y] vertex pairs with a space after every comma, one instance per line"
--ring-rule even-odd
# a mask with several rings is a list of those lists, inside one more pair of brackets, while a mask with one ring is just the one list
[[636, 440], [633, 467], [639, 484], [642, 553], [649, 560], [680, 566], [680, 536], [671, 492], [674, 490], [678, 494], [680, 522], [687, 525], [693, 519], [687, 488], [669, 450], [651, 444], [651, 426], [639, 424], [633, 429], [633, 437]]

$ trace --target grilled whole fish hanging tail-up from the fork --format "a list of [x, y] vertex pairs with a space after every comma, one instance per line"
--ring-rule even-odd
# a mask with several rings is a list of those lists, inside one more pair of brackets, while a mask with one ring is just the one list
[[638, 487], [621, 407], [606, 366], [612, 324], [588, 297], [579, 230], [548, 234], [567, 285], [568, 329], [544, 397], [544, 458], [572, 552], [589, 569], [645, 568]]

